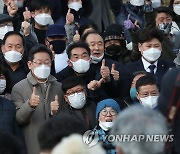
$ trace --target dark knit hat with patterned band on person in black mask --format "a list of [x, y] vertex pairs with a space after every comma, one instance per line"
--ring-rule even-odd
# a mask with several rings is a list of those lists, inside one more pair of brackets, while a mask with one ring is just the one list
[[124, 30], [118, 24], [111, 24], [103, 33], [104, 41], [124, 39]]

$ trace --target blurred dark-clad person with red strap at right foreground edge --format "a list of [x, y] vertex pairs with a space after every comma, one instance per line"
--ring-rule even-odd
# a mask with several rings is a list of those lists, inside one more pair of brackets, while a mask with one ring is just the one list
[[[180, 108], [178, 108], [178, 106], [180, 105], [179, 93], [180, 68], [174, 68], [164, 75], [164, 78], [162, 80], [162, 91], [160, 92], [160, 96], [158, 99], [158, 109], [167, 119], [169, 119], [171, 111], [173, 111], [172, 113], [174, 113], [174, 116], [171, 119], [172, 121], [174, 121], [171, 125], [172, 133], [174, 135], [174, 141], [171, 146], [171, 152], [173, 154], [180, 153]], [[168, 122], [170, 121], [168, 120]]]

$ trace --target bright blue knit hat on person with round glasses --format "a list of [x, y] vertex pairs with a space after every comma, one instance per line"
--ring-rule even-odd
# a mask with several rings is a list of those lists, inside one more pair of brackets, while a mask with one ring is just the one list
[[119, 104], [118, 104], [114, 99], [104, 99], [104, 100], [100, 101], [100, 102], [97, 104], [97, 108], [96, 108], [96, 119], [98, 119], [99, 113], [100, 113], [105, 107], [112, 107], [113, 109], [115, 109], [115, 110], [117, 111], [117, 113], [119, 113], [119, 111], [120, 111]]

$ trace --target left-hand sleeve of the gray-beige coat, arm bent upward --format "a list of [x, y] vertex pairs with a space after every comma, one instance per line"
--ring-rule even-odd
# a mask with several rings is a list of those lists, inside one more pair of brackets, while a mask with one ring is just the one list
[[35, 109], [31, 108], [29, 105], [29, 99], [23, 100], [23, 91], [21, 91], [20, 87], [16, 85], [12, 89], [12, 100], [16, 106], [16, 121], [19, 125], [25, 125], [30, 121], [31, 115]]

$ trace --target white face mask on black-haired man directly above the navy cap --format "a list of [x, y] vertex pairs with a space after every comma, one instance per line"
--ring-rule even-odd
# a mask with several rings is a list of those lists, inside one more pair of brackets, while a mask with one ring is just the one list
[[54, 23], [52, 17], [46, 13], [36, 15], [34, 20], [42, 26], [52, 25]]

